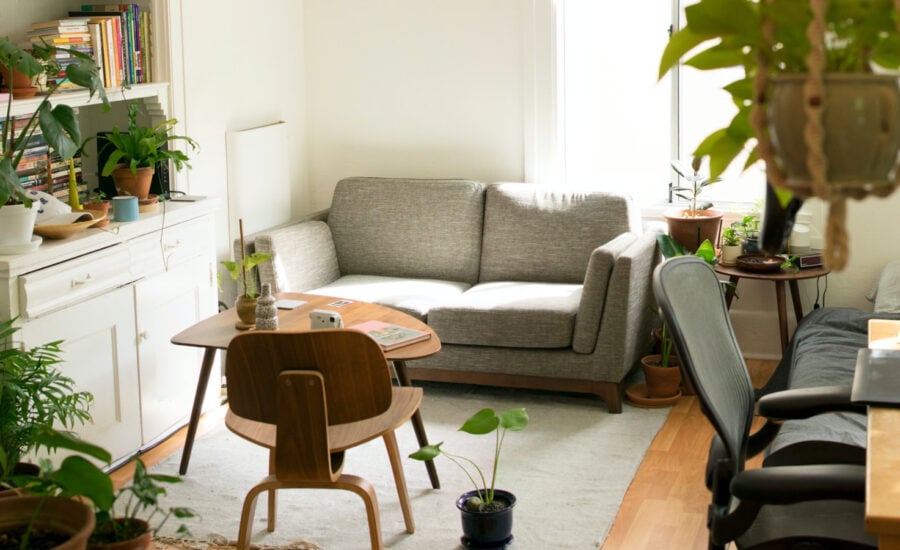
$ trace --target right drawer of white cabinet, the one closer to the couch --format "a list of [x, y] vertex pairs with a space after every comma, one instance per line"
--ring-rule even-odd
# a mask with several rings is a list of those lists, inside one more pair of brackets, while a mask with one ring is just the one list
[[145, 235], [129, 243], [135, 279], [168, 271], [197, 256], [212, 256], [212, 222], [208, 216], [167, 227], [162, 235]]

